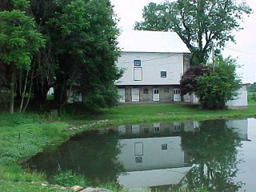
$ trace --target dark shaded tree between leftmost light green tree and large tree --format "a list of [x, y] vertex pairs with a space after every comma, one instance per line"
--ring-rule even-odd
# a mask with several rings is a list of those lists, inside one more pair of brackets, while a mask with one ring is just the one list
[[[51, 86], [56, 84], [55, 71], [58, 69], [58, 48], [62, 45], [62, 36], [55, 33], [52, 20], [62, 15], [62, 10], [70, 1], [31, 0], [30, 11], [36, 22], [37, 29], [46, 37], [46, 46], [34, 55], [34, 74], [31, 70], [30, 82], [33, 92], [32, 104], [43, 106]], [[58, 43], [58, 39], [59, 43]]]

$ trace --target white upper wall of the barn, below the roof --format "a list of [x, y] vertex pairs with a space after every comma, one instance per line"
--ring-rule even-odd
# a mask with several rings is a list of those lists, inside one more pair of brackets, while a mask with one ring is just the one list
[[[158, 59], [156, 59], [158, 58]], [[141, 60], [142, 81], [134, 81], [134, 60]], [[116, 85], [179, 85], [183, 74], [183, 54], [122, 52], [117, 66], [125, 70]], [[161, 78], [166, 71], [166, 78]]]

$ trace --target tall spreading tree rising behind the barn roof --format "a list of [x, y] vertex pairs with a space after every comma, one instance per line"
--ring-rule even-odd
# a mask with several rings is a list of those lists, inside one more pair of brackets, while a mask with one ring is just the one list
[[234, 30], [243, 14], [250, 14], [246, 2], [235, 0], [177, 0], [163, 4], [150, 3], [144, 7], [144, 21], [135, 30], [172, 30], [178, 34], [192, 53], [192, 64], [205, 63], [211, 44], [222, 48], [234, 42]]

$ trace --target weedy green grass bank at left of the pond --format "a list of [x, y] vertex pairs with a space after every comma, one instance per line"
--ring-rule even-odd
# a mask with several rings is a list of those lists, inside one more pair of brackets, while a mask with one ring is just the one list
[[66, 123], [45, 122], [34, 114], [1, 114], [0, 191], [51, 191], [41, 186], [46, 179], [43, 174], [26, 173], [17, 162], [69, 138], [66, 127]]

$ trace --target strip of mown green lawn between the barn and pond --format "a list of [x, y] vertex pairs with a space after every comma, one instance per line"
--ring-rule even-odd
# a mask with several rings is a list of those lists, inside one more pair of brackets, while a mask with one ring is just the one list
[[[174, 103], [121, 104], [112, 109], [98, 110], [96, 114], [90, 116], [90, 119], [108, 119], [113, 125], [128, 122], [256, 117], [256, 102], [250, 101], [249, 103], [250, 106], [246, 110], [199, 110], [197, 106]], [[83, 114], [76, 114], [74, 118], [66, 118], [67, 121], [74, 123], [83, 123], [88, 120], [88, 117]], [[65, 118], [63, 120], [65, 121]]]

